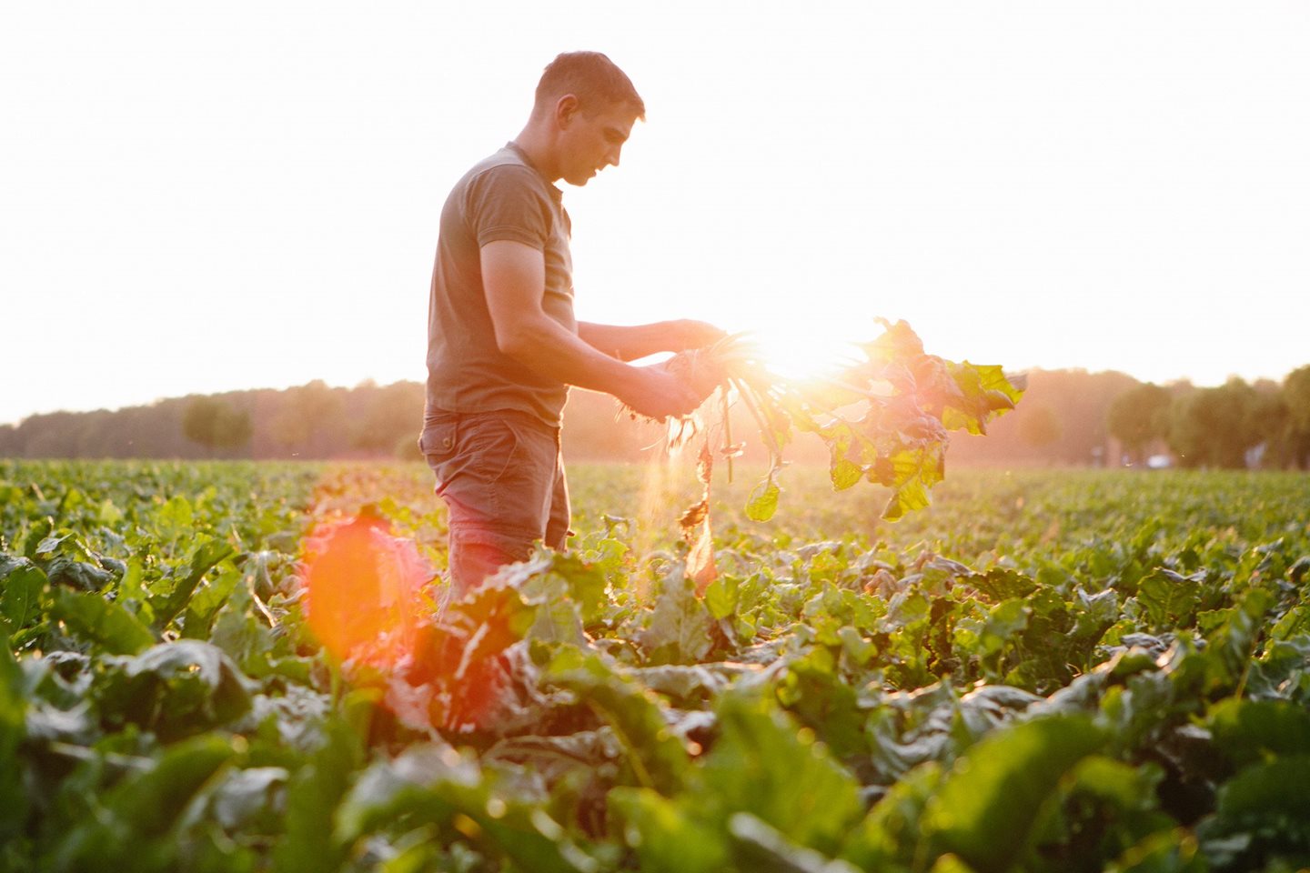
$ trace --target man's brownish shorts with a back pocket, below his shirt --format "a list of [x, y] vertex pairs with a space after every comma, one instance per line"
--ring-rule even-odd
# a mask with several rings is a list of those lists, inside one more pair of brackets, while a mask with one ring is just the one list
[[559, 429], [527, 412], [436, 412], [419, 448], [449, 509], [451, 588], [461, 597], [536, 542], [563, 548], [569, 484]]

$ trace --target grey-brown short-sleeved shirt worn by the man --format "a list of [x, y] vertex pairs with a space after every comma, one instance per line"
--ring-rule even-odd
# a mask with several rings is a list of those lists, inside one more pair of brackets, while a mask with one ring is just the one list
[[559, 427], [569, 386], [500, 352], [479, 250], [495, 240], [538, 249], [546, 315], [578, 332], [563, 194], [512, 143], [461, 178], [441, 208], [427, 317], [427, 414], [519, 410]]

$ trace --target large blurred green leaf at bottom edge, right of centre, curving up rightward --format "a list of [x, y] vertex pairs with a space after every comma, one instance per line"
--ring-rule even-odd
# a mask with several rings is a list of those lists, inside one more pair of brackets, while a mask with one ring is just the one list
[[971, 747], [937, 793], [925, 826], [981, 873], [1020, 865], [1064, 775], [1106, 737], [1090, 719], [1051, 716], [1014, 725]]

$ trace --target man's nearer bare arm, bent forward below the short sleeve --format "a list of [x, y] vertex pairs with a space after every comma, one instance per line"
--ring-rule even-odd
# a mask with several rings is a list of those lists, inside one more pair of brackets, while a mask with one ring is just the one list
[[685, 415], [701, 398], [679, 378], [605, 355], [541, 308], [546, 267], [541, 251], [508, 240], [481, 250], [487, 310], [502, 352], [552, 378], [613, 394], [651, 418]]

